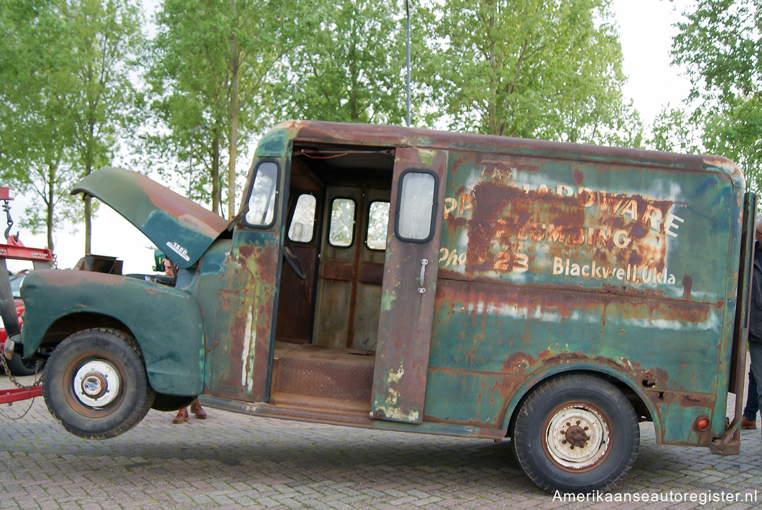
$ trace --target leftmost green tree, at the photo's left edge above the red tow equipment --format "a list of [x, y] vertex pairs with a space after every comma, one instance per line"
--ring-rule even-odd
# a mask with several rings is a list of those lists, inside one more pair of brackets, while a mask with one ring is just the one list
[[[4, 183], [31, 195], [21, 226], [53, 232], [75, 214], [68, 191], [76, 178], [69, 91], [75, 80], [70, 30], [54, 0], [9, 0], [0, 4], [0, 167]], [[17, 217], [18, 219], [18, 217]]]

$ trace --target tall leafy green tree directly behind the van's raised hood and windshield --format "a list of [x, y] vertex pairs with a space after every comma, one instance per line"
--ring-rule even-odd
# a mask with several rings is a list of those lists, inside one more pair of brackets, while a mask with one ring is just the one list
[[190, 166], [200, 166], [202, 174], [191, 168], [187, 180], [214, 211], [223, 203], [220, 184], [226, 180], [229, 217], [235, 214], [238, 146], [261, 127], [271, 107], [260, 93], [282, 56], [281, 34], [293, 25], [282, 18], [293, 16], [289, 9], [289, 2], [165, 0], [158, 13], [148, 72], [151, 110], [171, 135], [153, 137], [149, 147], [167, 160], [195, 160]]

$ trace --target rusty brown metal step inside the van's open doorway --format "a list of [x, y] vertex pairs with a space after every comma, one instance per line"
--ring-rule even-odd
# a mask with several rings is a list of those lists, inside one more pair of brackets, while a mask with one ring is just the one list
[[365, 351], [277, 342], [271, 395], [356, 401], [370, 408], [375, 359]]

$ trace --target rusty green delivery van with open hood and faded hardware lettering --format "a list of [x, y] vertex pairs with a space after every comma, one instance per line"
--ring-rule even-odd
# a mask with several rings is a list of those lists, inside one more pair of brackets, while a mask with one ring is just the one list
[[16, 348], [53, 348], [43, 395], [75, 435], [199, 396], [510, 438], [537, 485], [575, 492], [627, 473], [639, 422], [738, 452], [755, 198], [728, 159], [290, 121], [232, 220], [119, 168], [74, 192], [178, 267], [27, 276]]

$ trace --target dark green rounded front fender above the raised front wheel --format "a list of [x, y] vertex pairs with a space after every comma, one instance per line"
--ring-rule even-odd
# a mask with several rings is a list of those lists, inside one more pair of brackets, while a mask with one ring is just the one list
[[[195, 396], [203, 390], [203, 322], [190, 294], [119, 274], [48, 270], [30, 273], [21, 297], [26, 306], [21, 331], [25, 357], [43, 342], [50, 345], [98, 327], [92, 317], [99, 316], [120, 322], [136, 338], [155, 391]], [[75, 328], [61, 335], [63, 323]]]

